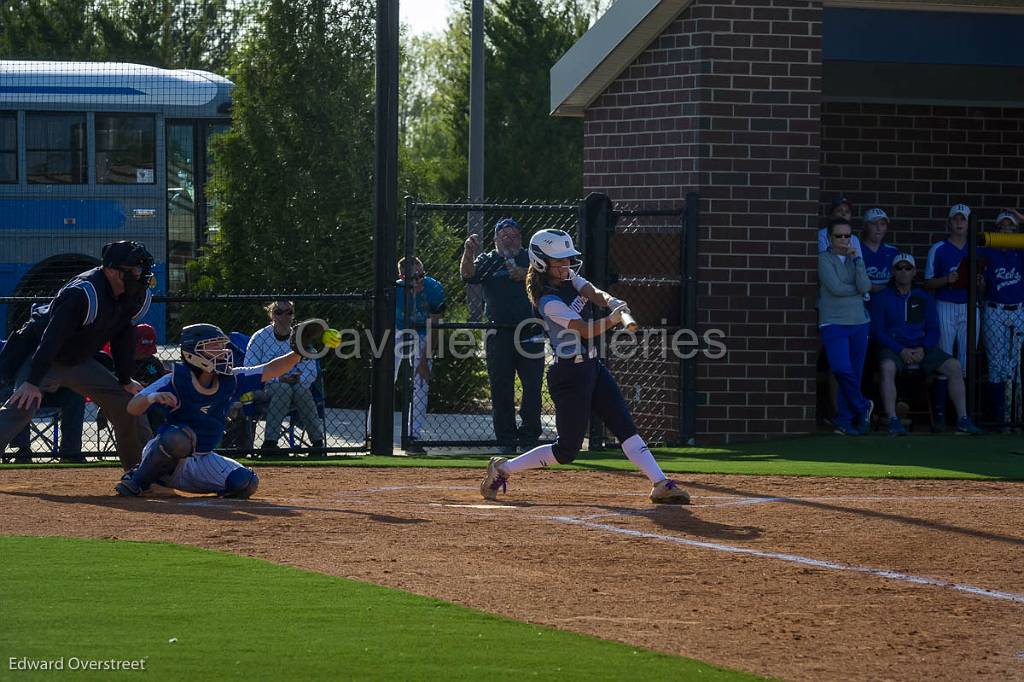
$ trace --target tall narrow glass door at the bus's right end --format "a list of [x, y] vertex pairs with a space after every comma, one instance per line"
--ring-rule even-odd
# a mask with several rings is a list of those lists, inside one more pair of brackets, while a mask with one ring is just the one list
[[168, 123], [167, 275], [168, 291], [185, 290], [185, 264], [196, 257], [196, 127]]

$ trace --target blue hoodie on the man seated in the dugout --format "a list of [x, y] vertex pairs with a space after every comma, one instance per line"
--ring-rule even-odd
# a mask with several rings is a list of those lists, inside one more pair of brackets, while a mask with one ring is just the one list
[[894, 285], [883, 289], [871, 297], [871, 338], [894, 353], [936, 345], [939, 314], [935, 299], [916, 287], [905, 296]]

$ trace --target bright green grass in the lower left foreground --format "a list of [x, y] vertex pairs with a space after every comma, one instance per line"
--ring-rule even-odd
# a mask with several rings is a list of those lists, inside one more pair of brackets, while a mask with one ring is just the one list
[[18, 679], [756, 679], [190, 547], [0, 538], [0, 670], [10, 657], [145, 662], [144, 673]]

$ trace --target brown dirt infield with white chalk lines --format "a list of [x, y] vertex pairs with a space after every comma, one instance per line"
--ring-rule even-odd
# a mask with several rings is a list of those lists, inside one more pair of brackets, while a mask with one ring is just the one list
[[1019, 483], [699, 475], [652, 508], [635, 474], [492, 505], [479, 470], [260, 473], [227, 501], [0, 471], [0, 534], [197, 545], [791, 680], [1024, 679]]

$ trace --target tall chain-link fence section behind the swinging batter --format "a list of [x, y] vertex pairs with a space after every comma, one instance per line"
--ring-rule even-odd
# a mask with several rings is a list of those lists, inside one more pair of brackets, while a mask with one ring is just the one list
[[[524, 247], [538, 229], [569, 232], [584, 254], [585, 276], [631, 303], [646, 333], [632, 342], [625, 339], [623, 353], [609, 354], [605, 345], [605, 361], [618, 379], [645, 438], [658, 443], [692, 442], [696, 355], [676, 352], [674, 343], [680, 330], [696, 326], [699, 198], [689, 195], [684, 206], [668, 209], [616, 208], [607, 197], [596, 194], [554, 204], [440, 204], [407, 198], [397, 253], [418, 257], [427, 276], [444, 287], [443, 315], [433, 328], [438, 337], [449, 335], [434, 349], [427, 415], [416, 442], [424, 447], [507, 444], [499, 443], [493, 428], [483, 336], [512, 326], [485, 319], [480, 286], [465, 284], [459, 269], [466, 238], [477, 235], [482, 251], [492, 250], [495, 224], [506, 217], [521, 225]], [[396, 287], [395, 300], [406, 295], [403, 287]], [[398, 317], [396, 327], [408, 329], [411, 306], [402, 309], [406, 318]], [[472, 352], [451, 352], [452, 337], [460, 334], [464, 340], [471, 339], [462, 347], [472, 345]], [[400, 441], [408, 447], [413, 442], [414, 370], [408, 361], [399, 368]], [[518, 408], [518, 380], [515, 395]], [[606, 444], [599, 421], [594, 420], [593, 426], [591, 446]], [[554, 410], [545, 385], [541, 440], [554, 437]]]

